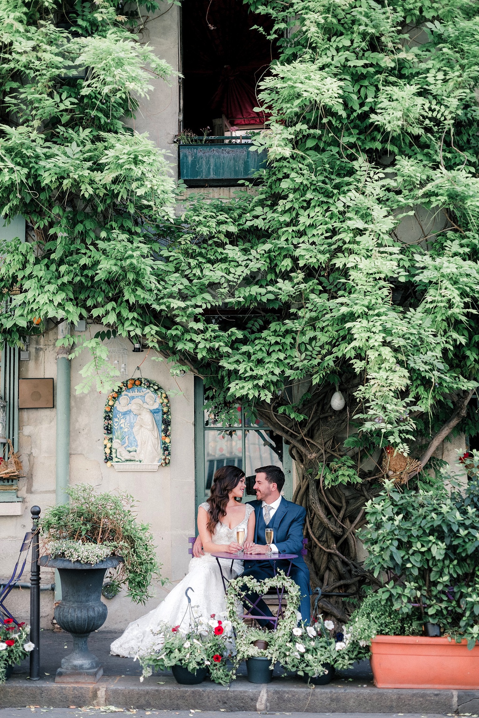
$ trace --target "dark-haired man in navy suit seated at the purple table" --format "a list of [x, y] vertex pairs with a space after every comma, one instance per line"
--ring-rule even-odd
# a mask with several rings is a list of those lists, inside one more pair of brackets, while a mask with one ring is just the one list
[[[284, 473], [278, 466], [263, 466], [255, 469], [256, 501], [249, 501], [256, 514], [256, 525], [254, 528], [254, 544], [246, 549], [246, 554], [298, 554], [293, 559], [289, 576], [301, 590], [301, 611], [302, 620], [310, 623], [311, 602], [310, 602], [310, 572], [301, 554], [304, 521], [306, 510], [287, 501], [281, 490], [284, 486]], [[266, 527], [273, 529], [273, 541], [271, 546], [266, 544]], [[285, 561], [286, 564], [286, 561]], [[281, 566], [281, 564], [279, 564]], [[243, 576], [252, 576], [261, 581], [273, 576], [273, 561], [245, 562]], [[256, 600], [256, 597], [254, 597]], [[257, 604], [259, 609], [271, 615], [271, 611], [264, 601]]]

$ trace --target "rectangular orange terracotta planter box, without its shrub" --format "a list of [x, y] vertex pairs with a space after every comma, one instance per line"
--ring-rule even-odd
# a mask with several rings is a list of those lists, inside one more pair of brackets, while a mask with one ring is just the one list
[[422, 635], [377, 635], [371, 668], [378, 688], [479, 689], [479, 645]]

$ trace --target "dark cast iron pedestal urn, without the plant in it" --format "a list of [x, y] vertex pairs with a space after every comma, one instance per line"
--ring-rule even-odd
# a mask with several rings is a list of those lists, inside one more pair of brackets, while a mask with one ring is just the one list
[[62, 600], [55, 608], [60, 628], [71, 633], [73, 652], [62, 659], [55, 683], [94, 684], [103, 676], [103, 666], [88, 651], [88, 636], [106, 621], [108, 609], [101, 601], [101, 587], [107, 569], [121, 564], [121, 556], [108, 556], [98, 564], [82, 564], [68, 559], [42, 556], [40, 566], [58, 569], [62, 584]]

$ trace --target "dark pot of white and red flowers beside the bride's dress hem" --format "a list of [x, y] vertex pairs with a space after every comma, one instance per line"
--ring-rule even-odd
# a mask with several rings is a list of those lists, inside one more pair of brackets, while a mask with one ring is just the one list
[[172, 669], [180, 684], [193, 685], [205, 680], [208, 673], [215, 683], [227, 686], [235, 677], [227, 658], [233, 648], [232, 624], [225, 617], [198, 616], [192, 609], [191, 628], [162, 625], [154, 634], [162, 645], [152, 653], [139, 656], [143, 667], [140, 681], [153, 671]]

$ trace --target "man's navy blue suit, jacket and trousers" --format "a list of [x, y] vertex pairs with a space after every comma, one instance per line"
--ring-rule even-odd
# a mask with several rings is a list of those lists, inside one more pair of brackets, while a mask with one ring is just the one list
[[[263, 502], [256, 500], [248, 501], [248, 503], [253, 506], [256, 516], [254, 543], [265, 546], [266, 523], [264, 522], [263, 511], [261, 510]], [[301, 589], [301, 604], [299, 605], [299, 610], [301, 611], [302, 619], [307, 623], [310, 623], [310, 571], [304, 563], [304, 559], [301, 555], [305, 520], [306, 510], [302, 506], [282, 498], [281, 503], [274, 512], [274, 515], [271, 517], [271, 521], [269, 521], [268, 528], [273, 529], [273, 543], [276, 546], [276, 549], [278, 549], [280, 555], [298, 554], [297, 559], [293, 559], [289, 576]], [[261, 579], [265, 579], [273, 575], [273, 561], [255, 561], [254, 563], [245, 562], [244, 565], [245, 570], [243, 576], [253, 576], [255, 579], [259, 579], [261, 581]], [[284, 571], [287, 571], [287, 566], [287, 561], [277, 564], [277, 567], [283, 568]], [[261, 608], [266, 615], [271, 615], [271, 612], [263, 601], [259, 602], [258, 607]]]

